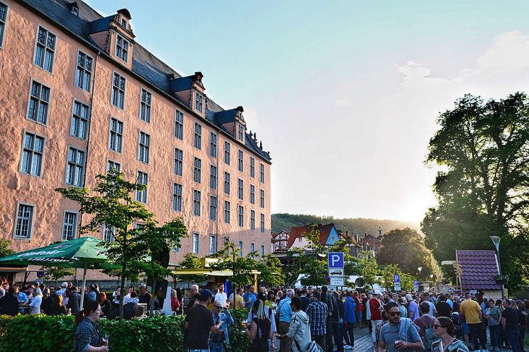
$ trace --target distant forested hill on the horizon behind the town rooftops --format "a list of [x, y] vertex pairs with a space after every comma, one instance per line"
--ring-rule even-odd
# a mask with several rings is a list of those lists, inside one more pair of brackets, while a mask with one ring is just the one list
[[359, 234], [377, 234], [379, 225], [382, 227], [382, 232], [387, 232], [390, 229], [411, 227], [420, 231], [420, 224], [418, 222], [399, 221], [399, 220], [378, 220], [378, 219], [364, 219], [357, 217], [354, 219], [336, 219], [335, 217], [321, 217], [316, 215], [304, 214], [272, 214], [272, 231], [281, 232], [285, 230], [290, 232], [290, 229], [295, 226], [303, 226], [307, 224], [328, 224], [333, 222], [336, 229], [342, 231], [357, 232]]

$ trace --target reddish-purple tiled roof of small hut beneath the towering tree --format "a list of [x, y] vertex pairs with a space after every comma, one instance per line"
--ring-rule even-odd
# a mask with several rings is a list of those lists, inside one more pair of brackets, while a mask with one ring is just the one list
[[463, 290], [501, 290], [494, 276], [499, 275], [495, 251], [455, 251], [461, 268]]

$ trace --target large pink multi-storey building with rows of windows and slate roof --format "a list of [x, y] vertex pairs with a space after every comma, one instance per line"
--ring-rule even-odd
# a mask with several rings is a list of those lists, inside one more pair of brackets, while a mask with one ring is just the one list
[[[270, 165], [243, 108], [208, 98], [135, 42], [126, 9], [0, 0], [0, 238], [15, 251], [79, 236], [87, 215], [57, 187], [93, 188], [110, 167], [147, 184], [159, 222], [182, 217], [172, 254], [270, 251]], [[101, 239], [111, 232], [101, 228]]]

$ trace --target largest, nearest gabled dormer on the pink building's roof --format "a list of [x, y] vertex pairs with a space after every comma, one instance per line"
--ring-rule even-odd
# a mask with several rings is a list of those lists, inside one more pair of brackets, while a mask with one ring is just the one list
[[114, 15], [92, 21], [89, 34], [108, 55], [132, 69], [135, 35], [130, 27], [130, 18], [130, 12], [122, 8]]

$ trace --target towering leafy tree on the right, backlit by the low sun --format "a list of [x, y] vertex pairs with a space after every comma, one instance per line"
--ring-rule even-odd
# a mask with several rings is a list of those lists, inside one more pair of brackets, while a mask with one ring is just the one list
[[438, 165], [438, 206], [422, 222], [425, 243], [439, 261], [455, 249], [494, 249], [501, 237], [503, 272], [511, 289], [527, 283], [529, 244], [529, 100], [465, 95], [441, 113], [426, 162]]

